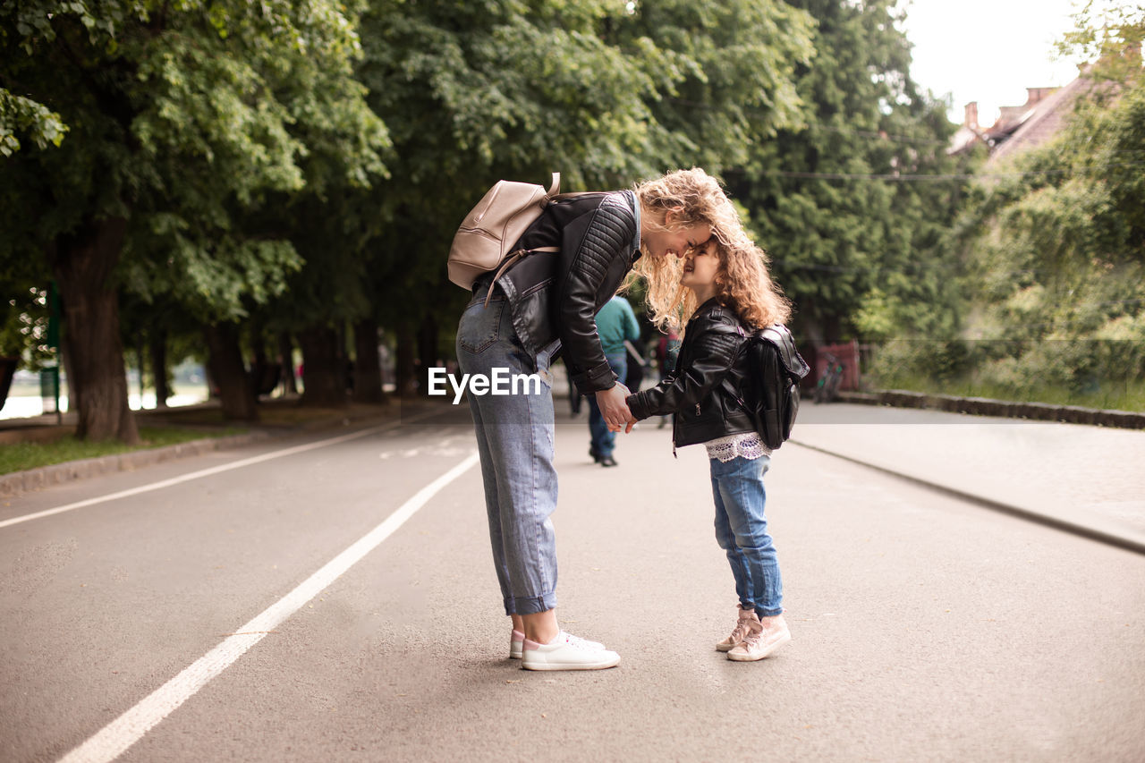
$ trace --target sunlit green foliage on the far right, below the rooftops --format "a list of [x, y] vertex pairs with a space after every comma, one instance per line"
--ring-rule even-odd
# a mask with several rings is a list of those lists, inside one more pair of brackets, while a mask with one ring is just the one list
[[1003, 179], [984, 182], [955, 225], [950, 254], [964, 259], [973, 299], [966, 333], [989, 348], [976, 352], [974, 384], [1093, 399], [1145, 380], [1140, 18], [1068, 38], [1103, 56], [1087, 95], [1051, 143], [993, 167]]

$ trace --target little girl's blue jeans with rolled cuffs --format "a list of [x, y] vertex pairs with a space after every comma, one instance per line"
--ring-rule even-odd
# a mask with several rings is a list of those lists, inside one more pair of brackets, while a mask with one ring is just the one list
[[783, 613], [783, 580], [772, 536], [767, 534], [764, 474], [771, 458], [711, 459], [716, 498], [716, 541], [727, 552], [740, 605], [760, 618]]

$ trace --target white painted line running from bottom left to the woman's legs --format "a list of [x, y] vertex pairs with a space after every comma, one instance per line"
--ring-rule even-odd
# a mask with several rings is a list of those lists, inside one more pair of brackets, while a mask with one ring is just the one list
[[477, 454], [449, 470], [436, 480], [418, 490], [417, 495], [403, 503], [397, 511], [380, 525], [362, 536], [353, 545], [327, 561], [318, 572], [298, 588], [273, 604], [254, 618], [234, 636], [196, 660], [190, 667], [157, 689], [139, 705], [109, 723], [94, 737], [61, 758], [61, 763], [108, 763], [123, 755], [156, 724], [171, 715], [179, 706], [195, 695], [212, 678], [229, 668], [248, 648], [266, 638], [283, 621], [298, 612], [310, 599], [321, 593], [342, 573], [357, 564], [365, 554], [378, 548], [405, 520], [412, 517], [439, 490], [464, 474], [477, 463]]

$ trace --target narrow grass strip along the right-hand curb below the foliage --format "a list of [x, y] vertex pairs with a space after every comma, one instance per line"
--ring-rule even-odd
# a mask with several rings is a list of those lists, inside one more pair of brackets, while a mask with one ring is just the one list
[[1060, 387], [1014, 390], [973, 378], [938, 382], [921, 376], [898, 376], [879, 384], [883, 390], [907, 390], [960, 398], [989, 398], [1013, 402], [1041, 402], [1051, 406], [1081, 406], [1101, 410], [1145, 411], [1145, 382], [1106, 383], [1096, 390], [1073, 392]]

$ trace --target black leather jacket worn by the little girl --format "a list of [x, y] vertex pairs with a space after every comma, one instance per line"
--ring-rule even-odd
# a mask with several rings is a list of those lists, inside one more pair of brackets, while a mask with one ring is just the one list
[[676, 369], [655, 387], [629, 395], [637, 419], [672, 417], [672, 445], [684, 447], [728, 434], [755, 432], [743, 404], [747, 331], [733, 310], [713, 297], [701, 305], [684, 332]]

